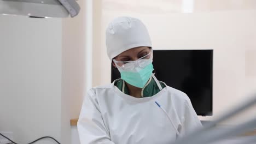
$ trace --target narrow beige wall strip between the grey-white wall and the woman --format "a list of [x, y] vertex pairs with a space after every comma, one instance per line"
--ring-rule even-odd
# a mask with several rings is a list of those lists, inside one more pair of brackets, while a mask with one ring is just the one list
[[70, 126], [70, 119], [78, 118], [86, 93], [86, 9], [85, 1], [78, 1], [78, 16], [62, 21], [62, 143], [79, 141], [77, 129]]

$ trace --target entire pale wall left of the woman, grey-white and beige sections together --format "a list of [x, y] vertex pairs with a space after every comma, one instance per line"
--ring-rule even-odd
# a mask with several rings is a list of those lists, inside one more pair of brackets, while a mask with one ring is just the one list
[[0, 131], [14, 131], [18, 142], [46, 135], [64, 144], [79, 141], [70, 126], [87, 80], [86, 4], [78, 3], [80, 13], [72, 19], [0, 15]]

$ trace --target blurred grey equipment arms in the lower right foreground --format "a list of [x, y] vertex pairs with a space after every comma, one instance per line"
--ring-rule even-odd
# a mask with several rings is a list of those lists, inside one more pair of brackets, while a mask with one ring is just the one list
[[[235, 116], [242, 111], [245, 111], [254, 104], [256, 104], [256, 94], [254, 94], [254, 97], [252, 97], [252, 99], [249, 99], [245, 104], [237, 106], [235, 109], [219, 117], [215, 121], [205, 125], [205, 127], [195, 130], [193, 133], [190, 133], [187, 136], [184, 136], [182, 139], [173, 142], [173, 144], [206, 144], [214, 141], [223, 140], [226, 137], [237, 136], [241, 133], [245, 133], [247, 130], [251, 130], [252, 128], [256, 127], [256, 117], [250, 119], [243, 124], [238, 125], [237, 127], [232, 127], [225, 130], [218, 130], [214, 128], [214, 125], [223, 122], [226, 119], [229, 119], [230, 117]], [[255, 138], [247, 139], [245, 141], [252, 142], [254, 140]]]

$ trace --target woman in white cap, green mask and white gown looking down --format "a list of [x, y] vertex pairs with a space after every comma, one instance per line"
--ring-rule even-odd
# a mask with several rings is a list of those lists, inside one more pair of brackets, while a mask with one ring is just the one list
[[121, 79], [89, 90], [78, 120], [81, 144], [170, 143], [201, 127], [188, 96], [152, 74], [152, 44], [140, 20], [114, 19], [106, 45]]

